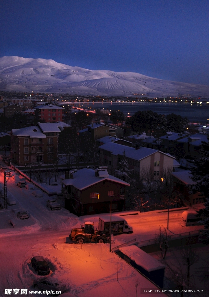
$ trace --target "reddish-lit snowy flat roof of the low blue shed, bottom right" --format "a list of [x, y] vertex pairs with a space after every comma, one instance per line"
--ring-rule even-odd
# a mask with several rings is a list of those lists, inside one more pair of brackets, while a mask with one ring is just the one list
[[160, 263], [160, 261], [153, 258], [135, 245], [131, 245], [129, 247], [120, 247], [119, 251], [128, 256], [137, 265], [141, 266], [148, 272], [165, 268], [165, 265]]

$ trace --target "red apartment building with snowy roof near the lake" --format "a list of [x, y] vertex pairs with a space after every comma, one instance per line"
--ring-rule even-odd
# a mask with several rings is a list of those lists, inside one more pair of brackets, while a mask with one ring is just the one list
[[57, 121], [63, 121], [62, 119], [62, 110], [64, 108], [53, 105], [46, 104], [41, 106], [36, 106], [36, 117], [39, 120], [45, 120], [46, 123], [56, 123]]

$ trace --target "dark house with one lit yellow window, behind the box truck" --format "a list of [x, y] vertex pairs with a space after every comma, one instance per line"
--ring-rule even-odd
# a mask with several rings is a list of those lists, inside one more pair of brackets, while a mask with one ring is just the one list
[[114, 212], [125, 207], [124, 188], [130, 184], [110, 175], [107, 167], [66, 171], [61, 179], [65, 208], [78, 216], [109, 213], [110, 200]]

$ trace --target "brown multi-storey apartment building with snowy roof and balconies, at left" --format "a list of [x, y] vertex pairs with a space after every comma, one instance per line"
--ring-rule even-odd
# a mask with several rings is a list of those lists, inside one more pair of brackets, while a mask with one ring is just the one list
[[12, 159], [17, 165], [56, 161], [59, 133], [58, 123], [38, 123], [36, 126], [12, 129]]

